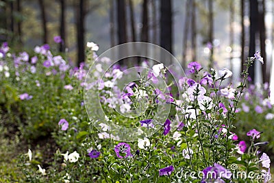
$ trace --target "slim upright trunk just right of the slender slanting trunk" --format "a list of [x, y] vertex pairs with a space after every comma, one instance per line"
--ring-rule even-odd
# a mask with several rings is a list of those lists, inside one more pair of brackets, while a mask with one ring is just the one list
[[197, 29], [196, 29], [196, 2], [192, 0], [192, 35], [191, 35], [191, 42], [192, 42], [192, 61], [196, 61], [196, 36], [197, 36]]

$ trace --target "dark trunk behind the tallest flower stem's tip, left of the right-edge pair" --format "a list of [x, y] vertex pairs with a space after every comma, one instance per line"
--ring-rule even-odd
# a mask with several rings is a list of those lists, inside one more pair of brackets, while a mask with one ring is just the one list
[[[257, 0], [249, 0], [250, 3], [250, 33], [249, 33], [249, 57], [253, 57], [256, 49], [256, 32], [258, 27], [258, 1]], [[254, 63], [249, 67], [249, 77], [251, 77], [251, 83], [254, 83], [255, 79], [255, 66]]]

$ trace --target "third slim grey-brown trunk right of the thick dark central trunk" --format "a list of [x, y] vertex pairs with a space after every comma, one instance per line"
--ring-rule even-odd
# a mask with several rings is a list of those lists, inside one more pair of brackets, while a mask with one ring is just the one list
[[209, 10], [209, 15], [208, 15], [208, 21], [210, 24], [209, 27], [209, 32], [208, 32], [208, 36], [209, 36], [209, 42], [212, 45], [212, 48], [210, 49], [210, 64], [209, 64], [209, 68], [213, 67], [213, 54], [214, 54], [214, 46], [213, 46], [213, 29], [214, 29], [214, 25], [213, 25], [213, 1], [212, 0], [208, 0], [208, 10]]

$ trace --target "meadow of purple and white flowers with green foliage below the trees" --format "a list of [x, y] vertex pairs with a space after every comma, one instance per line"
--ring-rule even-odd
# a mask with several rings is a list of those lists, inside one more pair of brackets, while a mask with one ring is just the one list
[[12, 162], [21, 173], [1, 181], [271, 182], [269, 85], [248, 75], [264, 64], [259, 51], [232, 83], [226, 68], [190, 62], [179, 75], [147, 59], [127, 68], [98, 49], [88, 42], [74, 67], [50, 45], [1, 45], [2, 135], [23, 149]]

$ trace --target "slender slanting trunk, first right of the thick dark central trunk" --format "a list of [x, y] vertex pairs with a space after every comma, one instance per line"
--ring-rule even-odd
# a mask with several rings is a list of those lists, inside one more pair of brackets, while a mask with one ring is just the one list
[[182, 67], [186, 69], [186, 53], [188, 50], [188, 28], [190, 21], [190, 0], [186, 0], [186, 14], [184, 16], [184, 32], [183, 32], [183, 53], [182, 53]]

